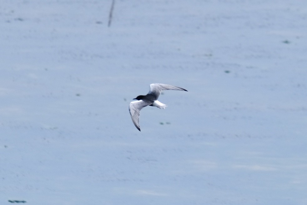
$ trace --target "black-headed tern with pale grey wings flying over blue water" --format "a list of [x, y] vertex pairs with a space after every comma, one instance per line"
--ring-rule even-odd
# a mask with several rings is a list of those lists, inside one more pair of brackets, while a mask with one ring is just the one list
[[186, 89], [172, 85], [166, 85], [161, 83], [150, 84], [149, 92], [147, 93], [147, 95], [139, 95], [138, 97], [133, 99], [137, 101], [132, 101], [129, 105], [129, 112], [131, 115], [132, 122], [139, 131], [141, 131], [139, 125], [139, 117], [142, 108], [145, 108], [147, 105], [154, 106], [160, 109], [165, 109], [167, 107], [166, 104], [163, 104], [157, 100], [161, 91], [163, 90], [187, 91]]

